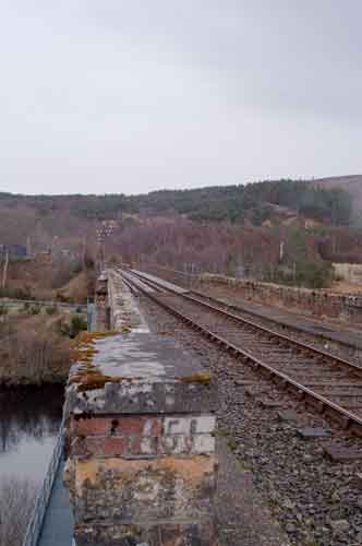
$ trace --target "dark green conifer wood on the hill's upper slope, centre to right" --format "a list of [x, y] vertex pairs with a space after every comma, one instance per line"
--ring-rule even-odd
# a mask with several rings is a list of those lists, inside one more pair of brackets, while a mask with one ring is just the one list
[[331, 225], [348, 225], [352, 213], [350, 194], [339, 188], [324, 189], [302, 180], [275, 180], [196, 190], [155, 191], [125, 198], [125, 207], [188, 214], [196, 221], [243, 223], [245, 217], [261, 225], [273, 217], [273, 205]]

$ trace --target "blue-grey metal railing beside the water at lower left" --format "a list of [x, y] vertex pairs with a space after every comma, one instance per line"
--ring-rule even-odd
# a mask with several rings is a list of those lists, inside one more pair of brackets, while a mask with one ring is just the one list
[[44, 517], [47, 511], [51, 489], [63, 453], [63, 424], [64, 423], [62, 420], [47, 474], [37, 495], [34, 511], [28, 522], [22, 546], [37, 546], [39, 542]]

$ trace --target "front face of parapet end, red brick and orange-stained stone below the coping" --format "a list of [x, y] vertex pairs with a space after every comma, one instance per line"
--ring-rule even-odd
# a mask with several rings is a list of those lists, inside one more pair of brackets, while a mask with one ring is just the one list
[[72, 418], [77, 545], [213, 544], [214, 427], [202, 416]]

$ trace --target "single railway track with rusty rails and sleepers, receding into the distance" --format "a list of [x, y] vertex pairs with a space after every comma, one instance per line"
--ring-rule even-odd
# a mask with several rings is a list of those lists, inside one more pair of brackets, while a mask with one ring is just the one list
[[121, 272], [142, 293], [183, 322], [305, 399], [315, 410], [362, 436], [362, 368], [236, 314], [197, 294], [141, 272]]

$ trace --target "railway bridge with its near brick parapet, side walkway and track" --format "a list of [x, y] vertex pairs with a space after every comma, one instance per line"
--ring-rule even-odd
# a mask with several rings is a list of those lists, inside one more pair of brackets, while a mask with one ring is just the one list
[[[346, 358], [255, 309], [140, 271], [111, 269], [98, 278], [90, 329], [79, 340], [61, 432], [24, 546], [216, 544], [215, 387], [169, 332], [149, 331], [141, 296], [261, 372], [245, 384], [272, 380], [348, 434], [362, 436], [358, 335], [317, 332], [330, 344], [345, 343]], [[277, 399], [262, 402], [280, 407]], [[329, 438], [330, 431], [309, 426], [299, 434]], [[361, 450], [349, 447], [325, 451], [336, 461], [362, 459]]]

